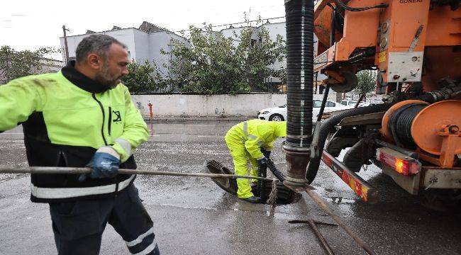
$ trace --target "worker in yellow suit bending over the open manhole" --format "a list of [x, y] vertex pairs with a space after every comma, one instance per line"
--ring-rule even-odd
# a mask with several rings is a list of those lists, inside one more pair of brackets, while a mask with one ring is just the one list
[[[258, 175], [258, 168], [267, 167], [267, 158], [277, 137], [287, 136], [286, 121], [247, 120], [234, 125], [226, 133], [226, 144], [232, 155], [235, 174], [246, 175], [248, 159], [252, 164], [250, 174]], [[257, 179], [252, 181], [257, 182]], [[237, 179], [238, 198], [259, 203], [260, 198], [251, 192], [248, 179]]]

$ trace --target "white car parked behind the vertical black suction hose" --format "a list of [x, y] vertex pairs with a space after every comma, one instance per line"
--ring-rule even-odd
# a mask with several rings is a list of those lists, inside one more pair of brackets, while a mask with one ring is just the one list
[[[321, 105], [322, 105], [321, 100], [318, 100], [318, 99], [313, 100], [313, 108], [312, 108], [312, 122], [313, 123], [315, 123], [317, 120], [317, 115], [320, 111]], [[345, 106], [341, 103], [336, 103], [336, 102], [327, 100], [324, 113], [351, 109], [351, 108], [353, 108], [353, 106]], [[260, 120], [271, 120], [271, 121], [287, 120], [287, 105], [262, 109], [261, 111], [257, 112], [257, 118], [259, 118]]]

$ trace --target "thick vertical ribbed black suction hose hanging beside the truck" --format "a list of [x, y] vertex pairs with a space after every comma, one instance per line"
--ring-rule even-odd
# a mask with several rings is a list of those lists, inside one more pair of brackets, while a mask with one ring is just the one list
[[313, 0], [285, 0], [287, 27], [287, 145], [312, 140]]

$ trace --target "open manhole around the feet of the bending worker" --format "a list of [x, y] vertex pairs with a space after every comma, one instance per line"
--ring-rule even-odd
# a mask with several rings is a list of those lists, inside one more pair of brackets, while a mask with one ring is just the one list
[[[234, 174], [233, 171], [230, 171], [226, 166], [223, 166], [221, 163], [216, 160], [207, 160], [205, 162], [205, 170], [211, 174]], [[235, 179], [229, 178], [211, 178], [211, 180], [216, 183], [220, 188], [228, 193], [237, 195], [237, 181]], [[264, 181], [262, 185], [262, 194], [257, 193], [257, 188], [252, 188], [252, 193], [255, 196], [262, 195], [262, 200], [265, 202], [272, 190], [272, 181]], [[296, 203], [301, 198], [301, 194], [291, 191], [289, 188], [285, 187], [282, 183], [277, 183], [277, 205], [287, 205], [291, 203]]]

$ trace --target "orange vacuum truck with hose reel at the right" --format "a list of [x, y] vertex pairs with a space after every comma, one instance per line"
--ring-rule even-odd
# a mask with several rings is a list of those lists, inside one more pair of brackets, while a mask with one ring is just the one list
[[[461, 8], [459, 0], [321, 0], [313, 12], [313, 72], [336, 92], [377, 70], [384, 103], [336, 113], [313, 135], [310, 183], [322, 160], [362, 200], [377, 191], [356, 173], [379, 166], [423, 201], [461, 200]], [[328, 93], [328, 92], [327, 92]], [[328, 142], [327, 142], [327, 137]], [[350, 148], [342, 161], [341, 150]], [[426, 203], [427, 204], [427, 203]]]

